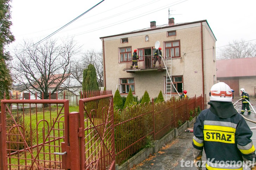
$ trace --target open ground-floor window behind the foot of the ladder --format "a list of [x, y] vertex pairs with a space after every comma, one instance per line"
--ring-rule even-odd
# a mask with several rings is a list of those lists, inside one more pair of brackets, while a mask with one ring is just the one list
[[[166, 93], [170, 93], [171, 91], [172, 91], [172, 94], [177, 94], [177, 91], [178, 91], [178, 93], [182, 93], [182, 91], [183, 91], [183, 76], [172, 76], [171, 79], [172, 79], [172, 82], [169, 79], [169, 77], [167, 77], [167, 81], [166, 81], [166, 77], [165, 77], [164, 83], [167, 85], [167, 86], [165, 86]], [[173, 86], [172, 86], [172, 83], [173, 83]]]

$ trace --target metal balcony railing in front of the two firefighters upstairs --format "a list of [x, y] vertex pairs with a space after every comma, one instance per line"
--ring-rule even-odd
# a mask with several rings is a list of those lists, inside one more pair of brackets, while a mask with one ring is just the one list
[[[154, 62], [155, 61], [155, 62]], [[154, 64], [155, 63], [155, 64]], [[152, 55], [145, 55], [145, 56], [140, 56], [138, 59], [138, 69], [135, 68], [135, 65], [133, 68], [132, 66], [132, 60], [129, 59], [128, 62], [126, 62], [126, 67], [123, 69], [124, 71], [130, 72], [130, 71], [135, 71], [135, 70], [165, 70], [164, 68], [164, 63], [162, 62], [162, 58], [159, 56], [152, 56]]]

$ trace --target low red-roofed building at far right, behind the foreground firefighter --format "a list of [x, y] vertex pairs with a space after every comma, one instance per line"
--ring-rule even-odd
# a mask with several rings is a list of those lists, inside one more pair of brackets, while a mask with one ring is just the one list
[[256, 97], [256, 57], [217, 60], [217, 80], [229, 84], [235, 90], [234, 96], [240, 96], [244, 88], [250, 97]]

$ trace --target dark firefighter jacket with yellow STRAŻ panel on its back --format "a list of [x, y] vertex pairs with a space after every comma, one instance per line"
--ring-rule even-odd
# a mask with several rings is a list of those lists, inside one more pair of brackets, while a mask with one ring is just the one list
[[198, 150], [205, 150], [207, 169], [219, 170], [222, 166], [242, 170], [243, 157], [250, 161], [255, 157], [251, 136], [252, 131], [240, 114], [220, 118], [206, 109], [194, 123], [192, 144]]

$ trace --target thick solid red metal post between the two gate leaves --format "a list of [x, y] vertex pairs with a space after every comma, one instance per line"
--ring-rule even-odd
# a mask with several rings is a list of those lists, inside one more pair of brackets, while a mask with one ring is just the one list
[[79, 148], [79, 113], [74, 111], [69, 114], [69, 142], [70, 142], [70, 169], [80, 169]]

